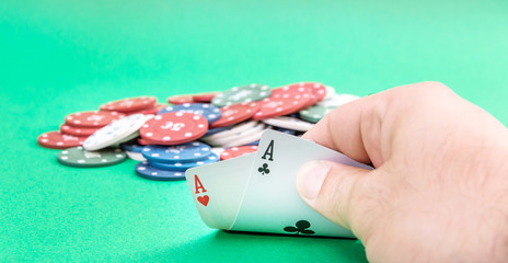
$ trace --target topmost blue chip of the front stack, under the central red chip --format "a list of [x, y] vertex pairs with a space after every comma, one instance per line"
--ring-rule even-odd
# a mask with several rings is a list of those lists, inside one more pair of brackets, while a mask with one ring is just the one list
[[142, 155], [150, 162], [188, 162], [206, 159], [209, 155], [210, 146], [192, 141], [177, 146], [146, 146]]

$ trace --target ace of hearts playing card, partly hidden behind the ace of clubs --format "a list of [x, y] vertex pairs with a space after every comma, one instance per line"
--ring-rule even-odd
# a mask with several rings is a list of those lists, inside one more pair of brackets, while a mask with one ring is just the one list
[[254, 153], [185, 172], [199, 216], [210, 228], [229, 229], [240, 209]]

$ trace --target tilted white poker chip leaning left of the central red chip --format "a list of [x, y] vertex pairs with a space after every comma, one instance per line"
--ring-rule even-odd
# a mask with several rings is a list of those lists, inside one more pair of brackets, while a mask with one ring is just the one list
[[134, 114], [113, 122], [86, 138], [83, 142], [83, 148], [93, 151], [122, 142], [125, 139], [132, 139], [139, 135], [137, 133], [139, 133], [139, 128], [146, 121], [146, 115]]

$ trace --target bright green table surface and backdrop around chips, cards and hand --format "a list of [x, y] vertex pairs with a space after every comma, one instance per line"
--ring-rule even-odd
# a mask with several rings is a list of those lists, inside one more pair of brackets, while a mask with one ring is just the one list
[[59, 165], [36, 137], [136, 95], [437, 80], [508, 124], [508, 1], [0, 1], [0, 261], [363, 262], [355, 240], [208, 229], [185, 182]]

